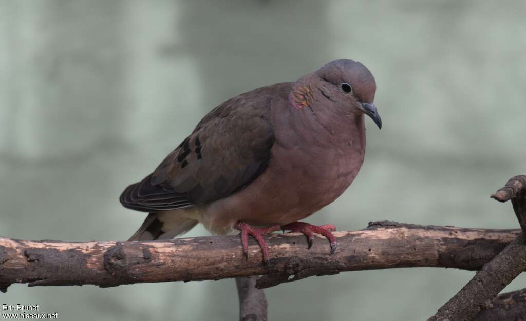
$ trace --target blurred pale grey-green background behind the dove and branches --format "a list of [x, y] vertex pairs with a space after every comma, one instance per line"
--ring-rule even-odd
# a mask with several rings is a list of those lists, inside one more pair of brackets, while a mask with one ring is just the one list
[[[218, 103], [332, 59], [376, 77], [379, 131], [307, 221], [515, 228], [489, 198], [526, 173], [526, 2], [0, 0], [0, 235], [126, 240], [118, 196]], [[185, 236], [208, 233], [199, 226]], [[266, 291], [272, 320], [421, 320], [474, 272], [345, 272]], [[526, 287], [520, 276], [505, 291]], [[60, 320], [235, 320], [235, 282], [9, 287]]]

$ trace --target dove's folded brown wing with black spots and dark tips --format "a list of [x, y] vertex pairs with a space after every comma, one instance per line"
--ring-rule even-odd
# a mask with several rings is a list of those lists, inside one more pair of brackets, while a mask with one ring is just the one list
[[267, 168], [274, 130], [270, 104], [290, 83], [261, 87], [221, 103], [121, 203], [152, 212], [206, 204], [245, 187]]

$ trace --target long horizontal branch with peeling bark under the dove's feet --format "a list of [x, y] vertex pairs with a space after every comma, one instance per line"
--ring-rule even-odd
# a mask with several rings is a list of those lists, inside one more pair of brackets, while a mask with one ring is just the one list
[[249, 240], [249, 257], [239, 236], [150, 242], [21, 241], [0, 238], [0, 289], [13, 283], [83, 285], [198, 281], [264, 275], [258, 287], [313, 275], [394, 267], [453, 267], [478, 270], [520, 230], [462, 229], [375, 222], [361, 231], [334, 233], [338, 250], [329, 255], [324, 237], [308, 250], [301, 234], [266, 237], [271, 264]]

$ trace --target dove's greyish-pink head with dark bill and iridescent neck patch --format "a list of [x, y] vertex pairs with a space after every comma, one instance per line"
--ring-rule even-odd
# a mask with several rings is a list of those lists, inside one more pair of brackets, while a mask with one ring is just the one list
[[290, 100], [296, 108], [318, 105], [343, 113], [365, 113], [381, 128], [382, 120], [373, 103], [375, 92], [375, 77], [366, 66], [358, 61], [340, 59], [300, 78]]

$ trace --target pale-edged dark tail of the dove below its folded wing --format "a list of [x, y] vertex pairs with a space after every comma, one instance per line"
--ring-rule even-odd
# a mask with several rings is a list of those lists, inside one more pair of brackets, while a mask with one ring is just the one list
[[197, 220], [189, 219], [177, 212], [150, 213], [129, 241], [173, 239], [177, 235], [190, 231], [199, 223]]

